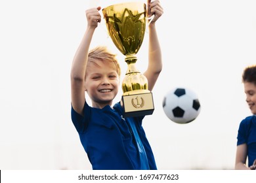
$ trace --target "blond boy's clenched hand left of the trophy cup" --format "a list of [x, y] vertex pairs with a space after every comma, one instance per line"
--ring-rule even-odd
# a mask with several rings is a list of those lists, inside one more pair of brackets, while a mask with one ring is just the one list
[[87, 17], [87, 25], [88, 27], [97, 27], [98, 23], [101, 21], [100, 13], [98, 12], [101, 9], [101, 7], [97, 8], [90, 8], [85, 11], [86, 17]]

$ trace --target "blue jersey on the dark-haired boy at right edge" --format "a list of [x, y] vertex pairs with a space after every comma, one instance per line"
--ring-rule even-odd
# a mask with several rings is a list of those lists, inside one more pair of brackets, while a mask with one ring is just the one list
[[256, 116], [248, 116], [240, 123], [237, 145], [247, 144], [248, 166], [256, 159]]

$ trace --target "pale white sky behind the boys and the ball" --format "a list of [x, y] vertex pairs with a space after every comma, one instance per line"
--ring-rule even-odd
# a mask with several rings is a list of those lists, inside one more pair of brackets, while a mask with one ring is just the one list
[[[0, 2], [0, 169], [91, 169], [70, 117], [70, 66], [87, 25], [85, 10], [116, 2]], [[152, 91], [154, 113], [143, 122], [158, 169], [233, 169], [238, 126], [251, 115], [241, 75], [256, 63], [256, 3], [161, 5], [163, 71]], [[91, 47], [98, 44], [119, 54], [124, 75], [124, 57], [104, 24]], [[146, 33], [137, 54], [142, 73], [147, 46]], [[177, 86], [191, 88], [200, 99], [201, 112], [190, 124], [175, 124], [163, 112], [165, 93]]]

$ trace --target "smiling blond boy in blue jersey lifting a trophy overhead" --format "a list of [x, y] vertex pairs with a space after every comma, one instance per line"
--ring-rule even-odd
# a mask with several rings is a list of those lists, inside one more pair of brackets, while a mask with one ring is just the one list
[[[120, 69], [115, 55], [105, 47], [89, 52], [93, 33], [101, 21], [101, 7], [86, 11], [87, 29], [77, 48], [71, 69], [72, 122], [93, 169], [157, 169], [142, 119], [123, 118], [120, 103], [112, 107], [119, 86]], [[161, 50], [156, 20], [163, 14], [160, 1], [148, 0], [149, 25], [148, 90], [152, 91], [161, 72]], [[92, 101], [89, 107], [85, 91]]]

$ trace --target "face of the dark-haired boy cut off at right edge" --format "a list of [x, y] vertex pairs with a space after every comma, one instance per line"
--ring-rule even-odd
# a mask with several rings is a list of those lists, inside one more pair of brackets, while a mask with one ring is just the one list
[[244, 82], [244, 92], [251, 113], [256, 114], [256, 85], [253, 82]]

